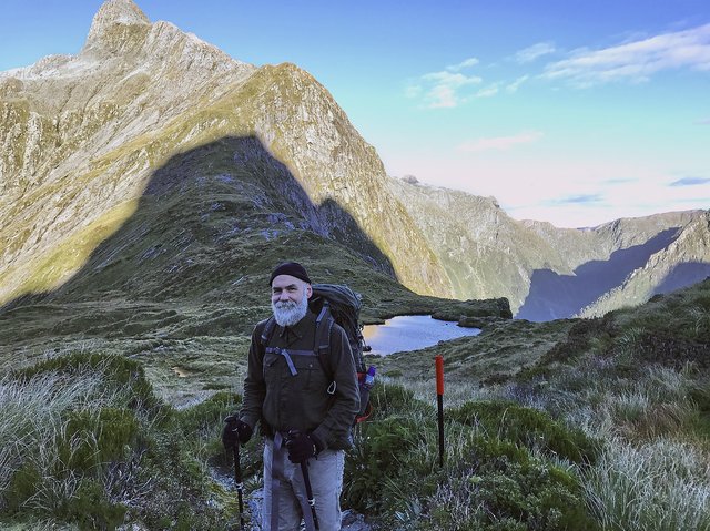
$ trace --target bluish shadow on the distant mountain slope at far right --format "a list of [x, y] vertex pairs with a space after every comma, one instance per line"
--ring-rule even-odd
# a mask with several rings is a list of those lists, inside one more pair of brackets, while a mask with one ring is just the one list
[[570, 317], [605, 293], [621, 285], [651, 255], [668, 247], [678, 228], [658, 233], [642, 245], [611, 253], [608, 261], [591, 261], [575, 269], [574, 275], [559, 275], [550, 269], [536, 269], [530, 277], [530, 290], [516, 318], [535, 321]]

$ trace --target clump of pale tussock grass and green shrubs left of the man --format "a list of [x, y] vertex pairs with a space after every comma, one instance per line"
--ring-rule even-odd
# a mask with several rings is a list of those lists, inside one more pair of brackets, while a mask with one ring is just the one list
[[174, 410], [136, 361], [98, 353], [6, 375], [0, 524], [224, 529], [230, 497], [207, 461], [224, 461], [219, 432], [234, 399], [223, 392]]

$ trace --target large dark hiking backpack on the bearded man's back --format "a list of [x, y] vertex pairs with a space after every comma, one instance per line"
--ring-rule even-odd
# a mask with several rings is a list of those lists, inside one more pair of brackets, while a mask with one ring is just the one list
[[[359, 310], [363, 307], [363, 297], [349, 287], [338, 284], [313, 284], [313, 295], [308, 300], [308, 308], [316, 315], [315, 344], [321, 367], [333, 381], [335, 370], [331, 366], [329, 338], [333, 324], [338, 324], [351, 344], [353, 362], [357, 372], [357, 388], [359, 390], [361, 409], [353, 423], [366, 420], [373, 412], [369, 402], [369, 391], [374, 385], [375, 367], [365, 367], [363, 353], [371, 350], [363, 337], [363, 324], [359, 321]], [[270, 317], [262, 333], [262, 345], [267, 347], [271, 336], [276, 327], [276, 319]], [[334, 384], [334, 382], [333, 382]], [[335, 387], [328, 387], [328, 394], [335, 394]]]

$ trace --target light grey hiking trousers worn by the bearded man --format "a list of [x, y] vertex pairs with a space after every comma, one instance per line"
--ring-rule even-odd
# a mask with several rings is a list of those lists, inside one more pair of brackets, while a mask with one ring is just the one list
[[[307, 466], [321, 531], [338, 531], [345, 451], [323, 450], [317, 458], [308, 459]], [[298, 531], [302, 519], [306, 530], [314, 529], [307, 500], [301, 464], [292, 463], [284, 447], [274, 449], [274, 441], [266, 439], [263, 531]]]

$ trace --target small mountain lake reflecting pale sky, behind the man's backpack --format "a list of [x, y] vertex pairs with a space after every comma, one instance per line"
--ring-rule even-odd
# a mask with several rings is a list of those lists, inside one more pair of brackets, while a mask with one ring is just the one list
[[464, 328], [456, 323], [433, 319], [429, 315], [402, 315], [387, 319], [384, 325], [367, 325], [363, 329], [365, 343], [373, 347], [369, 354], [381, 356], [418, 350], [439, 341], [478, 334], [480, 328]]

